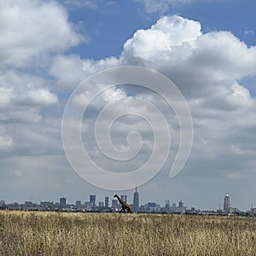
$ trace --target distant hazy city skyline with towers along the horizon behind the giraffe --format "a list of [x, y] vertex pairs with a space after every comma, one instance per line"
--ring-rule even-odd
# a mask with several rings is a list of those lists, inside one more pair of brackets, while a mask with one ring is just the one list
[[[121, 201], [127, 202], [127, 195], [120, 195]], [[23, 210], [23, 211], [61, 211], [61, 212], [119, 212], [121, 204], [118, 200], [110, 201], [108, 196], [105, 196], [104, 201], [98, 201], [96, 204], [96, 195], [89, 195], [89, 201], [75, 201], [74, 204], [67, 204], [67, 199], [61, 197], [60, 201], [40, 201], [36, 204], [32, 201], [25, 201], [24, 204], [13, 202], [6, 204], [5, 201], [0, 201], [0, 210]], [[230, 196], [224, 196], [223, 207], [219, 206], [216, 211], [208, 211], [196, 209], [195, 207], [186, 207], [181, 200], [178, 203], [170, 203], [166, 200], [164, 206], [151, 201], [144, 205], [139, 204], [139, 192], [134, 192], [133, 201], [131, 204], [132, 212], [145, 213], [177, 213], [177, 214], [198, 214], [198, 215], [238, 215], [238, 216], [256, 216], [256, 208], [253, 205], [246, 212], [240, 211], [236, 207], [230, 206]]]

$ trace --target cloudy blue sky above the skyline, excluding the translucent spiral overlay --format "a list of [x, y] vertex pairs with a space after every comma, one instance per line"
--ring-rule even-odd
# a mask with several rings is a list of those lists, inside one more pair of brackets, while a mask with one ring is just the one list
[[[118, 192], [132, 202], [139, 185], [142, 204], [183, 200], [188, 207], [218, 209], [229, 194], [232, 207], [256, 206], [255, 16], [253, 0], [0, 0], [0, 200], [59, 201], [64, 196], [73, 203], [96, 194], [96, 201], [103, 201]], [[161, 161], [168, 145], [163, 137], [155, 143], [154, 131], [161, 134], [165, 125], [149, 106], [160, 109], [171, 135], [160, 172], [147, 183], [135, 180], [132, 189], [114, 191], [84, 181], [73, 170], [61, 123], [68, 99], [84, 79], [125, 66], [150, 68], [172, 80], [188, 104], [194, 137], [183, 170], [170, 178], [181, 139], [175, 110], [137, 84], [97, 95], [84, 111], [81, 138], [90, 159], [108, 172], [137, 170], [153, 151], [154, 164]], [[73, 97], [73, 110], [84, 108], [102, 88], [89, 84]], [[111, 148], [102, 152], [97, 145], [97, 117], [113, 102], [118, 105], [111, 117], [122, 111], [137, 115], [115, 121], [103, 116], [99, 143], [108, 146], [109, 121], [109, 137], [119, 150], [138, 143], [138, 137], [127, 137], [137, 131], [143, 143], [130, 160], [113, 160]], [[69, 114], [68, 135], [73, 137]], [[150, 126], [148, 119], [157, 125]]]

